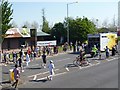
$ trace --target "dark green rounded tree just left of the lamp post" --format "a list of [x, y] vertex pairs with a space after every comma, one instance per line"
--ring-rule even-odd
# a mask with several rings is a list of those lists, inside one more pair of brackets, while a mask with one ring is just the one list
[[66, 28], [61, 22], [56, 23], [51, 29], [51, 36], [53, 36], [53, 38], [57, 40], [58, 44], [64, 43], [66, 41], [66, 33]]

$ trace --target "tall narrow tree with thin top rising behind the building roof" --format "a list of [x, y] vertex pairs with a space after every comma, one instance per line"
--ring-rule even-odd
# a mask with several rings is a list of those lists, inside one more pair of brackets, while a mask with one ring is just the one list
[[50, 33], [49, 23], [45, 18], [45, 10], [44, 9], [42, 9], [42, 14], [43, 14], [43, 16], [42, 16], [42, 19], [43, 19], [42, 31], [46, 32], [46, 33]]

